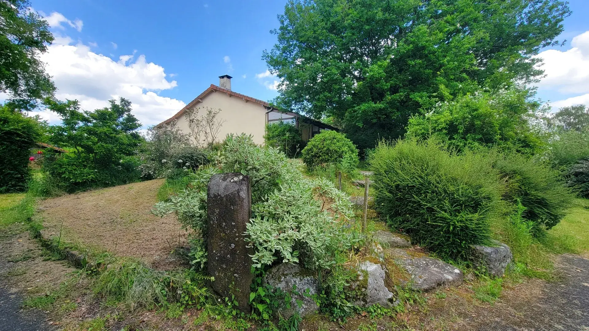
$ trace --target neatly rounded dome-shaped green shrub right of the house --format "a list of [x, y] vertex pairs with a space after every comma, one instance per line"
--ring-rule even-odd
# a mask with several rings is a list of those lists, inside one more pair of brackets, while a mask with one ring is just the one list
[[354, 165], [358, 164], [358, 149], [343, 133], [336, 131], [323, 131], [315, 135], [307, 142], [301, 155], [307, 168], [311, 169], [317, 165], [340, 162], [343, 158], [348, 158]]

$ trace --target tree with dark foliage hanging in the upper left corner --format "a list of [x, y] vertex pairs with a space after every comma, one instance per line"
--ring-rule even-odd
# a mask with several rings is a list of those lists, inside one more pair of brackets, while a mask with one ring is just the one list
[[23, 0], [0, 0], [0, 92], [10, 106], [31, 109], [53, 95], [55, 86], [38, 55], [53, 41], [47, 21], [29, 11]]

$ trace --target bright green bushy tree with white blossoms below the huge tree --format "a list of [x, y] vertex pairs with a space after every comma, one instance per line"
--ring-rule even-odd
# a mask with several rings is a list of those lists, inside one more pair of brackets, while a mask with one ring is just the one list
[[528, 91], [521, 89], [461, 95], [410, 118], [406, 136], [433, 137], [458, 152], [498, 147], [534, 155], [545, 145], [540, 128], [532, 125], [539, 108], [540, 103], [528, 101]]

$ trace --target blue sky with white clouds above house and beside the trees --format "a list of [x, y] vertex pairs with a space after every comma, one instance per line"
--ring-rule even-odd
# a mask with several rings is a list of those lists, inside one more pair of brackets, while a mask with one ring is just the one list
[[[570, 1], [573, 15], [559, 38], [567, 44], [540, 55], [549, 74], [538, 89], [543, 101], [589, 103], [589, 32], [583, 35], [589, 31], [588, 2]], [[266, 72], [262, 52], [276, 42], [270, 30], [279, 26], [276, 16], [285, 3], [31, 1], [57, 36], [42, 56], [57, 97], [78, 99], [91, 110], [124, 96], [145, 125], [169, 118], [226, 73], [234, 91], [274, 98], [276, 79]], [[58, 121], [55, 114], [39, 114]]]

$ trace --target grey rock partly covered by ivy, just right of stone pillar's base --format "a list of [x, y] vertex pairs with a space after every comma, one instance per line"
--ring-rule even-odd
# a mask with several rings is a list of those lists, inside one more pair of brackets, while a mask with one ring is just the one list
[[[319, 293], [319, 282], [313, 273], [308, 270], [292, 263], [281, 263], [266, 272], [263, 282], [273, 287], [280, 287], [280, 289], [290, 293], [292, 296], [290, 309], [286, 306], [280, 308], [280, 315], [283, 319], [289, 319], [295, 312], [298, 312], [300, 316], [307, 316], [319, 310], [312, 297], [303, 295], [307, 289], [309, 289], [309, 295]], [[299, 292], [299, 295], [293, 293], [293, 285], [296, 285], [296, 291]], [[300, 307], [297, 305], [297, 299], [303, 302]]]

